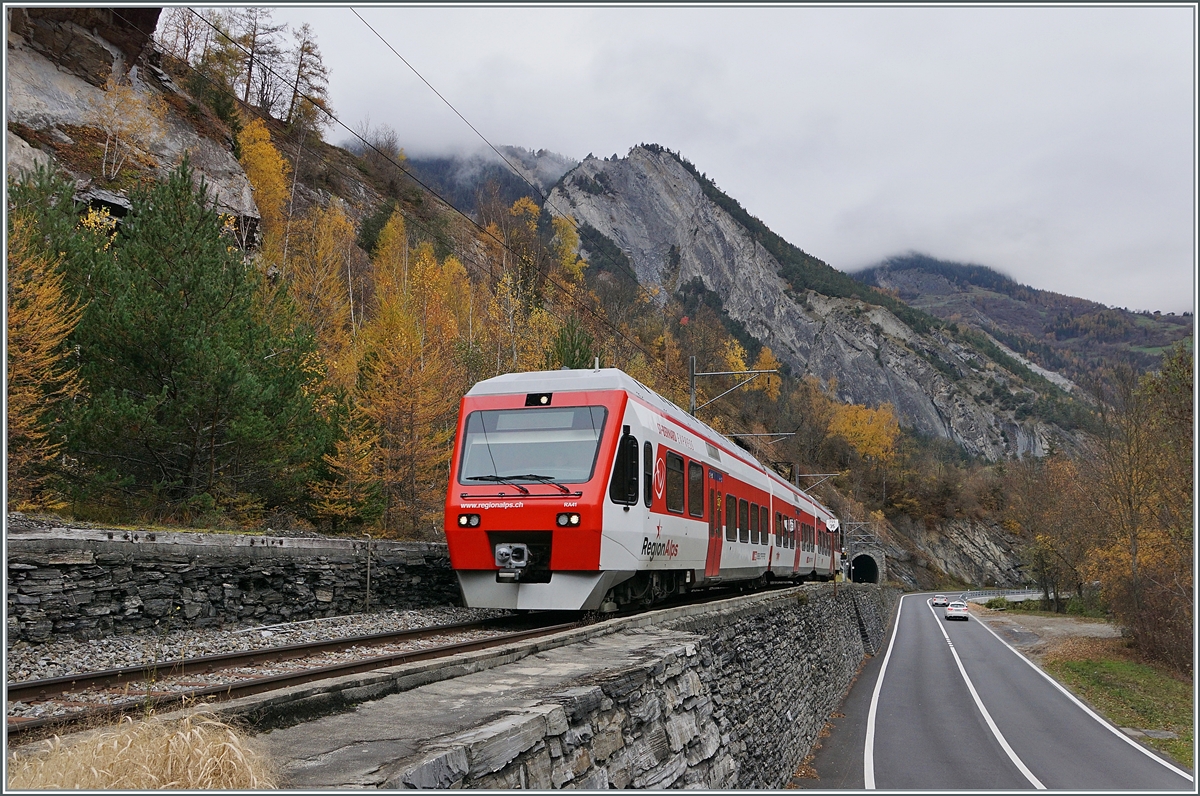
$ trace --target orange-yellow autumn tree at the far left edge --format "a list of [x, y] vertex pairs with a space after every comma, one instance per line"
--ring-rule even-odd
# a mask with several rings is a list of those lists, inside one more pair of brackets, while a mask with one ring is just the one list
[[79, 391], [64, 342], [80, 309], [58, 264], [37, 253], [31, 222], [10, 216], [8, 225], [8, 505], [60, 508], [47, 481], [62, 447], [55, 409]]

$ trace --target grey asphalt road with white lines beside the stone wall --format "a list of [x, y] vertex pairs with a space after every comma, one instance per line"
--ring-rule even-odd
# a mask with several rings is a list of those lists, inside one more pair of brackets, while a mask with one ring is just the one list
[[907, 594], [802, 788], [1192, 791], [1192, 773], [1129, 738], [985, 623]]

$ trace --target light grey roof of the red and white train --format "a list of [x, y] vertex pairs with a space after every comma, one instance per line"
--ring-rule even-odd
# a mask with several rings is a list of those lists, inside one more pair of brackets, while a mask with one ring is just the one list
[[737, 450], [739, 456], [744, 456], [758, 466], [768, 478], [802, 495], [804, 499], [833, 514], [820, 501], [805, 492], [799, 486], [790, 484], [770, 467], [763, 466], [750, 451], [728, 439], [725, 435], [714, 430], [707, 423], [697, 420], [678, 407], [674, 402], [662, 397], [650, 388], [646, 387], [636, 378], [619, 367], [600, 369], [575, 369], [575, 370], [544, 370], [527, 371], [522, 373], [503, 373], [492, 378], [476, 382], [467, 395], [509, 395], [511, 393], [584, 393], [594, 390], [625, 390], [638, 395], [649, 403], [658, 403], [660, 408], [676, 423], [689, 426], [697, 433], [707, 436], [714, 441], [724, 443], [730, 450]]

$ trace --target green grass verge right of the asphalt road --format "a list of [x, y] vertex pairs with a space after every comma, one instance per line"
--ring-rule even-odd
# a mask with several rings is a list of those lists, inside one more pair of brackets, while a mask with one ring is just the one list
[[1117, 726], [1176, 734], [1177, 738], [1139, 741], [1192, 768], [1190, 681], [1138, 660], [1121, 639], [1070, 639], [1049, 652], [1042, 665]]

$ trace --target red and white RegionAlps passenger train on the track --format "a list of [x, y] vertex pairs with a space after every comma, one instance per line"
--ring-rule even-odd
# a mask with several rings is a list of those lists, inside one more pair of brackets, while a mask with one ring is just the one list
[[479, 382], [457, 441], [445, 532], [469, 608], [613, 611], [841, 567], [827, 508], [617, 369]]

